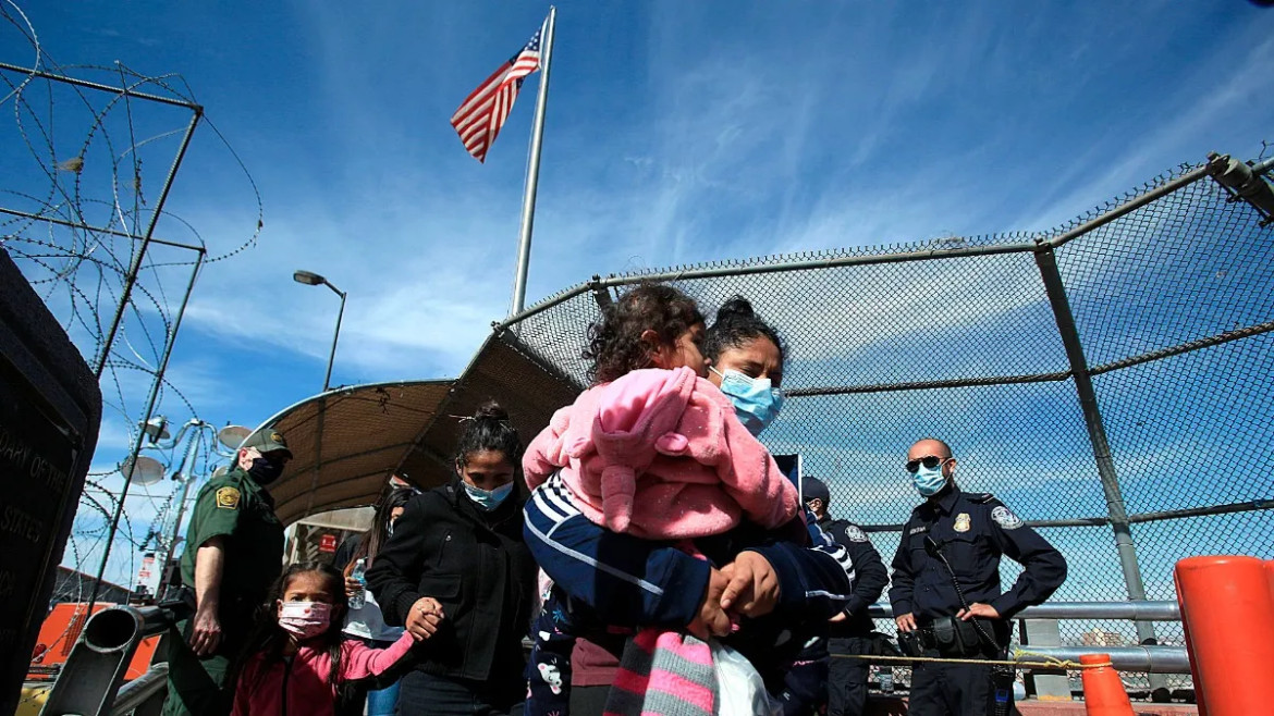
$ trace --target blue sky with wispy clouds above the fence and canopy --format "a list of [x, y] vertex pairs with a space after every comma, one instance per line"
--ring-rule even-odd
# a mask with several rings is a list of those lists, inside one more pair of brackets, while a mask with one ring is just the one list
[[[336, 299], [294, 284], [301, 268], [349, 292], [334, 385], [462, 369], [508, 308], [538, 80], [484, 166], [447, 120], [547, 9], [23, 4], [56, 62], [181, 74], [260, 190], [257, 245], [200, 278], [171, 367], [200, 417], [255, 426], [318, 390]], [[0, 37], [0, 60], [31, 62]], [[567, 1], [529, 298], [595, 273], [1046, 229], [1209, 150], [1256, 155], [1270, 68], [1274, 10], [1242, 0]], [[162, 175], [172, 138], [154, 148]], [[206, 126], [168, 209], [214, 251], [255, 229]], [[126, 446], [108, 415], [97, 462]]]

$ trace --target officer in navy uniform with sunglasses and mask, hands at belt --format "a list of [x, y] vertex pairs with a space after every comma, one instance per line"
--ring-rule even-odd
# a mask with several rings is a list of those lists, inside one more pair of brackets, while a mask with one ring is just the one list
[[[893, 558], [889, 601], [899, 642], [919, 637], [913, 646], [919, 656], [1006, 657], [1009, 619], [1061, 586], [1066, 561], [994, 496], [962, 492], [945, 442], [922, 440], [911, 446], [906, 466], [925, 502], [912, 510]], [[1001, 554], [1024, 567], [1008, 591], [1000, 590]], [[1009, 668], [919, 662], [912, 670], [913, 716], [1012, 710]]]

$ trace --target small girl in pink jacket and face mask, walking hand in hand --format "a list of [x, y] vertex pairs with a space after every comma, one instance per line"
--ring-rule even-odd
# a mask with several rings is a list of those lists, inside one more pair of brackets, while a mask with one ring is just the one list
[[331, 716], [341, 684], [380, 677], [412, 648], [410, 633], [389, 648], [345, 640], [345, 581], [330, 564], [289, 567], [275, 589], [270, 618], [250, 642], [232, 716]]

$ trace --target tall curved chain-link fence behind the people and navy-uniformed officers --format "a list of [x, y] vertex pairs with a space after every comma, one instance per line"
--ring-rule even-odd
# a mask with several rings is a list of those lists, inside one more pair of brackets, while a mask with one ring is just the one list
[[[1223, 159], [1054, 232], [595, 278], [497, 326], [448, 400], [516, 410], [522, 375], [580, 390], [586, 329], [626, 285], [670, 282], [707, 315], [741, 294], [789, 343], [790, 399], [764, 441], [800, 452], [887, 562], [917, 503], [906, 451], [933, 436], [966, 489], [1066, 555], [1054, 599], [1175, 599], [1185, 555], [1274, 557], [1274, 228], [1213, 178]], [[510, 348], [517, 359], [483, 359]], [[1005, 561], [1005, 584], [1018, 572]], [[1150, 636], [1182, 640], [1180, 624], [1063, 623], [1070, 645]]]

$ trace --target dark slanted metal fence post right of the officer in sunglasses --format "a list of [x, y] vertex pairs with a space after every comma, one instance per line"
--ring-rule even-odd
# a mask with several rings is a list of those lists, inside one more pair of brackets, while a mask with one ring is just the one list
[[[1045, 292], [1049, 294], [1052, 316], [1057, 321], [1057, 333], [1061, 334], [1066, 361], [1070, 363], [1071, 378], [1075, 381], [1075, 392], [1079, 396], [1079, 409], [1084, 414], [1084, 426], [1088, 428], [1088, 441], [1093, 446], [1093, 460], [1097, 462], [1097, 475], [1102, 480], [1102, 492], [1106, 494], [1106, 510], [1110, 513], [1111, 529], [1115, 530], [1115, 547], [1119, 550], [1119, 563], [1124, 571], [1127, 598], [1144, 601], [1145, 584], [1142, 581], [1136, 545], [1133, 544], [1133, 530], [1124, 507], [1124, 492], [1119, 485], [1115, 460], [1111, 457], [1110, 443], [1106, 440], [1106, 426], [1102, 423], [1102, 413], [1097, 406], [1097, 392], [1093, 390], [1093, 380], [1088, 372], [1088, 358], [1084, 357], [1079, 329], [1075, 327], [1075, 316], [1071, 313], [1070, 301], [1066, 298], [1066, 287], [1061, 280], [1061, 271], [1057, 270], [1057, 257], [1052, 247], [1046, 243], [1040, 245], [1034, 257], [1036, 265], [1040, 268], [1040, 276], [1043, 279]], [[1158, 643], [1154, 636], [1154, 624], [1149, 622], [1136, 622], [1135, 624], [1139, 642]], [[1162, 677], [1152, 674], [1150, 691], [1166, 688], [1167, 682]]]

